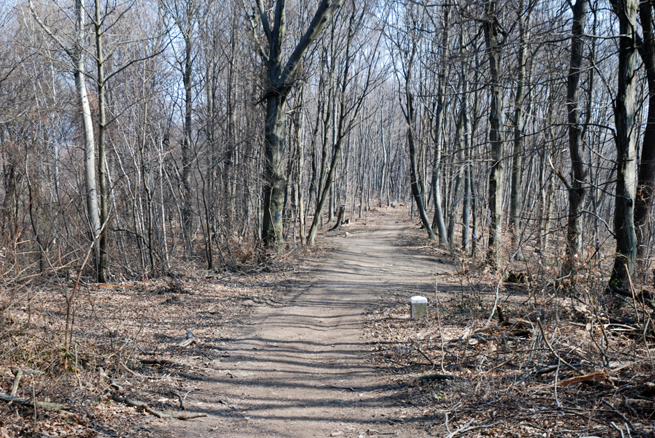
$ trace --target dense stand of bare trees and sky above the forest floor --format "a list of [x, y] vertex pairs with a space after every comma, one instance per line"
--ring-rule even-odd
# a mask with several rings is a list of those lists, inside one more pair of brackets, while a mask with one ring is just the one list
[[568, 278], [576, 260], [616, 258], [619, 292], [647, 272], [649, 3], [31, 0], [1, 14], [8, 276], [221, 269], [262, 244], [314, 244], [341, 204], [355, 219], [410, 197], [429, 237], [495, 267], [553, 253]]

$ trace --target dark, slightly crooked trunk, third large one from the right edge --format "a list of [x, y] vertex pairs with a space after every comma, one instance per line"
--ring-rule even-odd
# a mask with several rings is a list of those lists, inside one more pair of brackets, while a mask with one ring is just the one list
[[570, 276], [576, 260], [583, 257], [583, 210], [587, 201], [589, 166], [583, 157], [582, 127], [580, 127], [579, 90], [580, 65], [583, 61], [587, 0], [573, 5], [571, 26], [571, 62], [567, 78], [567, 120], [569, 122], [569, 153], [571, 154], [571, 182], [569, 191], [569, 220], [567, 223], [567, 260], [562, 276]]

